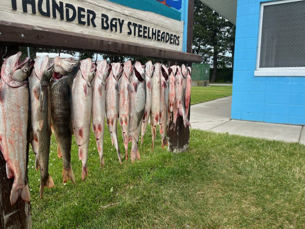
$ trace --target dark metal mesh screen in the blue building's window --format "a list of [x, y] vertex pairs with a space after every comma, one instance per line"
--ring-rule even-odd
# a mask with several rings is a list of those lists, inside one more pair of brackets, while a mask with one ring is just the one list
[[305, 67], [305, 1], [263, 6], [260, 68]]

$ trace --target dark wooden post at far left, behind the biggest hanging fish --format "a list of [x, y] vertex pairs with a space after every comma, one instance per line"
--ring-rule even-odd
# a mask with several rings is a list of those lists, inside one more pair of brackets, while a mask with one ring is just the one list
[[[5, 52], [2, 48], [0, 51], [0, 66], [2, 66], [2, 59]], [[14, 55], [18, 52], [18, 46], [7, 47], [7, 53], [5, 57]], [[30, 117], [30, 116], [29, 116]], [[30, 129], [30, 118], [28, 120], [28, 130]], [[28, 131], [29, 133], [29, 131]], [[29, 134], [27, 136], [29, 139]], [[29, 156], [29, 144], [27, 144], [27, 163]], [[26, 180], [27, 171], [26, 171]], [[10, 202], [10, 194], [13, 186], [14, 179], [8, 179], [6, 176], [5, 160], [3, 154], [0, 151], [0, 228], [3, 229], [27, 229], [31, 228], [31, 215], [30, 215], [30, 203], [24, 202], [20, 197], [17, 202], [12, 206]]]

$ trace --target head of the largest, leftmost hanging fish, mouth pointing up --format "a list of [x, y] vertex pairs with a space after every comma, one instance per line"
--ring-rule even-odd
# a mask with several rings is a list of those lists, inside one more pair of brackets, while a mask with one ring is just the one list
[[1, 70], [1, 77], [7, 78], [9, 81], [22, 82], [26, 80], [29, 71], [29, 60], [27, 57], [25, 60], [20, 61], [21, 52], [16, 53], [13, 56], [9, 56], [4, 60]]

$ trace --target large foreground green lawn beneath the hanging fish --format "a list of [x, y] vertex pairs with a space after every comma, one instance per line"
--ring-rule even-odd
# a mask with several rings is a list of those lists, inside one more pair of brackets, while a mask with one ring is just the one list
[[[53, 135], [49, 173], [55, 187], [45, 188], [42, 199], [30, 151], [33, 228], [305, 227], [305, 146], [191, 129], [187, 152], [162, 150], [160, 134], [151, 152], [148, 129], [141, 162], [129, 159], [127, 165], [119, 164], [107, 130], [102, 171], [91, 133], [84, 181], [73, 140], [75, 186], [62, 183]], [[119, 204], [103, 207], [113, 203]]]

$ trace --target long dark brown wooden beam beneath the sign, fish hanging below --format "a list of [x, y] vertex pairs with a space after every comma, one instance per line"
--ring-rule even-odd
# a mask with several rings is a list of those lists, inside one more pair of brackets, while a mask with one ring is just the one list
[[110, 38], [99, 38], [73, 32], [0, 21], [0, 42], [2, 45], [49, 47], [81, 52], [107, 53], [125, 56], [142, 56], [159, 60], [173, 60], [200, 63], [200, 55], [158, 49], [137, 43]]

